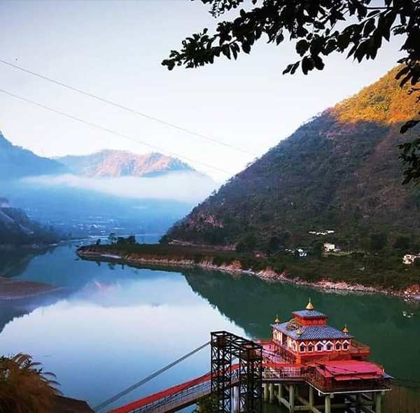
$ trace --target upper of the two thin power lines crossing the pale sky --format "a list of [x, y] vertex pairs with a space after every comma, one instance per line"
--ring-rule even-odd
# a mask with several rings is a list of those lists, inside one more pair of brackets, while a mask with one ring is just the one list
[[238, 146], [226, 144], [225, 142], [218, 141], [218, 139], [207, 137], [206, 135], [200, 134], [198, 132], [194, 132], [192, 130], [186, 129], [185, 127], [181, 127], [179, 125], [175, 125], [174, 123], [167, 122], [166, 120], [155, 118], [154, 116], [147, 115], [146, 113], [137, 111], [137, 110], [132, 109], [132, 108], [130, 108], [128, 106], [124, 106], [122, 104], [118, 104], [116, 102], [112, 102], [109, 99], [105, 99], [104, 97], [97, 96], [97, 94], [92, 94], [92, 93], [89, 93], [89, 92], [85, 92], [85, 90], [81, 90], [81, 89], [78, 89], [77, 87], [73, 87], [71, 85], [67, 85], [66, 83], [59, 82], [58, 80], [54, 80], [52, 78], [48, 78], [47, 76], [41, 75], [41, 73], [36, 73], [34, 71], [30, 71], [29, 69], [25, 69], [25, 67], [18, 66], [17, 64], [13, 64], [13, 63], [7, 62], [6, 60], [0, 59], [0, 63], [6, 64], [6, 65], [8, 65], [10, 67], [13, 67], [13, 68], [18, 69], [20, 71], [23, 71], [25, 73], [28, 73], [28, 74], [30, 74], [32, 76], [36, 76], [36, 77], [41, 78], [43, 80], [47, 80], [48, 82], [55, 83], [55, 85], [66, 87], [66, 89], [72, 90], [73, 92], [84, 94], [85, 96], [91, 97], [92, 99], [97, 99], [97, 100], [99, 100], [101, 102], [104, 102], [106, 104], [110, 104], [112, 106], [115, 106], [116, 108], [123, 109], [125, 111], [134, 113], [137, 116], [142, 116], [143, 118], [147, 118], [149, 120], [153, 120], [154, 122], [157, 122], [157, 123], [160, 123], [162, 125], [166, 125], [166, 126], [172, 127], [172, 128], [174, 128], [176, 130], [179, 130], [181, 132], [185, 132], [185, 133], [194, 135], [195, 137], [206, 139], [207, 141], [211, 141], [214, 144], [222, 145], [222, 146], [225, 146], [226, 148], [230, 148], [230, 149], [234, 149], [235, 151], [246, 153], [247, 155], [253, 155], [253, 156], [257, 156], [257, 157], [259, 156], [258, 154], [253, 153], [251, 151], [246, 151], [246, 149], [242, 149], [242, 148], [239, 148]]

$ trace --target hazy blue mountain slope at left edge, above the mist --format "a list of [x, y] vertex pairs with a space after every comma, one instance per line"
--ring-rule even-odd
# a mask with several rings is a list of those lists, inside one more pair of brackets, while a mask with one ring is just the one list
[[55, 160], [42, 158], [27, 149], [14, 146], [0, 132], [0, 179], [22, 176], [60, 174], [66, 167]]

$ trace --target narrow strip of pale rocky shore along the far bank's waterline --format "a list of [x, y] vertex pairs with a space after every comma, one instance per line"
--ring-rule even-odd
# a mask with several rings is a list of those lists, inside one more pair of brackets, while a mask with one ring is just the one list
[[230, 274], [249, 274], [258, 276], [260, 279], [265, 281], [283, 281], [288, 283], [294, 283], [298, 286], [309, 286], [313, 288], [320, 288], [323, 290], [341, 290], [351, 292], [363, 292], [363, 293], [384, 293], [388, 295], [394, 295], [402, 297], [405, 300], [419, 300], [420, 301], [420, 285], [414, 284], [405, 288], [405, 290], [387, 290], [376, 286], [363, 286], [362, 284], [350, 284], [346, 282], [332, 282], [328, 279], [323, 279], [317, 282], [310, 282], [299, 278], [290, 279], [286, 272], [275, 272], [272, 268], [266, 267], [260, 271], [253, 271], [251, 269], [243, 269], [239, 260], [234, 260], [230, 264], [222, 263], [221, 265], [215, 265], [211, 258], [195, 261], [191, 258], [185, 257], [162, 257], [152, 254], [139, 254], [139, 253], [123, 253], [122, 251], [113, 251], [112, 248], [108, 248], [106, 251], [90, 251], [89, 247], [79, 248], [77, 251], [81, 258], [85, 259], [99, 259], [99, 260], [118, 260], [125, 262], [128, 265], [162, 265], [162, 266], [173, 266], [173, 267], [200, 267], [203, 269], [217, 270], [228, 272]]

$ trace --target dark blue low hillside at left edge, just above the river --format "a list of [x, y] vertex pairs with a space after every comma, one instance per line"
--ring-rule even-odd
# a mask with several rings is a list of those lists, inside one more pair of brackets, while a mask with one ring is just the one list
[[0, 198], [0, 246], [52, 244], [58, 240], [54, 230], [41, 227], [21, 209], [10, 207], [6, 198]]

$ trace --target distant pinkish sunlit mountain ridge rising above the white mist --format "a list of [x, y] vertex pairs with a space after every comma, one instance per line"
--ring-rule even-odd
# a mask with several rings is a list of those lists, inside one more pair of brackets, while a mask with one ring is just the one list
[[57, 158], [71, 172], [91, 176], [158, 176], [169, 172], [194, 171], [179, 159], [148, 153], [137, 155], [128, 151], [99, 151], [91, 155], [69, 155]]

